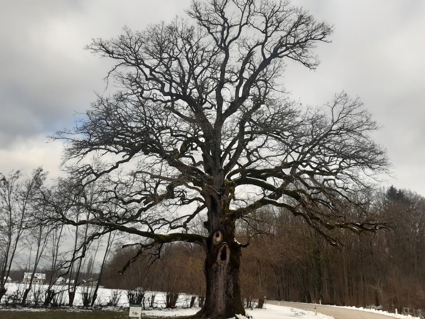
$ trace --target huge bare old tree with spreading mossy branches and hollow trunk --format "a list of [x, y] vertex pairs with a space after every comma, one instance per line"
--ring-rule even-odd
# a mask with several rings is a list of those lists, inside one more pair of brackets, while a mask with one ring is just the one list
[[[103, 196], [86, 205], [87, 219], [61, 210], [55, 218], [96, 225], [96, 236], [139, 235], [132, 260], [168, 242], [201, 245], [206, 299], [195, 316], [228, 318], [244, 314], [236, 220], [274, 205], [331, 245], [339, 245], [334, 228], [376, 231], [386, 223], [347, 219], [340, 208], [368, 186], [366, 175], [385, 173], [388, 160], [359, 99], [340, 93], [323, 108], [304, 107], [281, 85], [285, 63], [317, 67], [313, 49], [329, 42], [327, 23], [287, 1], [194, 0], [186, 12], [194, 24], [125, 28], [87, 47], [116, 61], [108, 77], [118, 91], [54, 138], [67, 142], [74, 191], [97, 181]], [[90, 165], [89, 154], [102, 154], [106, 167]], [[84, 205], [77, 195], [69, 202]], [[207, 236], [192, 231], [198, 215]]]

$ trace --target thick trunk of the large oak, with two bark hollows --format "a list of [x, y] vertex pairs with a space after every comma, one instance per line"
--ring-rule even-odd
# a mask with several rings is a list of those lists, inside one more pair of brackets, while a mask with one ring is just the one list
[[245, 315], [239, 289], [241, 247], [234, 231], [216, 231], [207, 244], [204, 273], [207, 291], [202, 309], [195, 318], [224, 319]]

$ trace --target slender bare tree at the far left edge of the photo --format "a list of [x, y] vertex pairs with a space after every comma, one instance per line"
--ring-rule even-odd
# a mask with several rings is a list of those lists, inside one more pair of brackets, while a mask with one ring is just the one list
[[31, 203], [45, 176], [42, 168], [35, 169], [31, 177], [23, 176], [21, 171], [0, 173], [0, 300], [7, 291], [5, 279], [30, 226]]

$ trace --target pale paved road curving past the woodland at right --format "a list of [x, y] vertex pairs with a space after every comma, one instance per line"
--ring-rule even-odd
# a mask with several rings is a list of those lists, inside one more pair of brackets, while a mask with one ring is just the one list
[[[278, 305], [277, 301], [267, 300], [266, 303], [272, 305]], [[288, 306], [298, 309], [310, 310], [314, 311], [314, 304], [303, 304], [297, 302], [280, 302], [281, 306]], [[391, 317], [380, 315], [377, 313], [371, 313], [362, 310], [348, 309], [348, 308], [339, 308], [339, 307], [331, 307], [324, 305], [316, 305], [317, 312], [323, 313], [328, 316], [333, 316], [335, 319], [389, 319]]]

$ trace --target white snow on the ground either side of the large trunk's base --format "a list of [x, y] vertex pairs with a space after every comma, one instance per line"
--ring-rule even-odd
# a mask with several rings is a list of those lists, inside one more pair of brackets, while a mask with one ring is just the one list
[[[314, 315], [314, 312], [307, 310], [300, 310], [297, 308], [278, 306], [278, 305], [264, 305], [263, 309], [246, 309], [246, 314], [254, 319], [334, 319], [334, 317], [326, 316], [321, 313]], [[142, 316], [191, 316], [199, 311], [199, 308], [187, 309], [153, 309], [143, 310]], [[238, 316], [238, 319], [246, 319], [247, 317]]]

